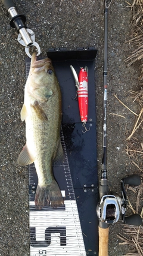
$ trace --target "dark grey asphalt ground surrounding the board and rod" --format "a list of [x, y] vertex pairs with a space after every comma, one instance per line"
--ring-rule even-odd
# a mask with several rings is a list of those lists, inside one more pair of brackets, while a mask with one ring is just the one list
[[[46, 56], [49, 47], [94, 46], [95, 97], [97, 104], [97, 148], [99, 173], [102, 146], [102, 70], [104, 49], [104, 1], [92, 0], [23, 0], [15, 1], [17, 11], [26, 14], [27, 26], [35, 32]], [[128, 1], [132, 4], [132, 1]], [[110, 188], [120, 194], [120, 179], [136, 172], [126, 155], [126, 132], [132, 131], [134, 115], [114, 97], [128, 104], [134, 112], [129, 89], [139, 89], [139, 68], [126, 67], [125, 59], [133, 47], [130, 39], [132, 13], [126, 1], [111, 1], [108, 13], [108, 180]], [[17, 32], [11, 28], [10, 16], [0, 3], [0, 255], [28, 256], [29, 254], [29, 191], [27, 167], [19, 167], [18, 154], [25, 144], [25, 125], [20, 120], [26, 83], [24, 47], [17, 41]], [[89, 99], [90, 100], [90, 99]], [[125, 118], [116, 115], [116, 113]], [[109, 256], [121, 256], [128, 246], [119, 245], [116, 234], [122, 222], [110, 227]]]

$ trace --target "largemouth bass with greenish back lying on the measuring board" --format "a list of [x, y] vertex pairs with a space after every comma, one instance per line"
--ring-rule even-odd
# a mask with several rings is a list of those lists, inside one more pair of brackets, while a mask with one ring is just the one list
[[52, 170], [53, 162], [64, 156], [60, 140], [61, 91], [51, 59], [37, 60], [36, 53], [32, 55], [20, 116], [26, 123], [26, 144], [17, 161], [21, 166], [35, 164], [35, 206], [61, 207], [64, 199]]

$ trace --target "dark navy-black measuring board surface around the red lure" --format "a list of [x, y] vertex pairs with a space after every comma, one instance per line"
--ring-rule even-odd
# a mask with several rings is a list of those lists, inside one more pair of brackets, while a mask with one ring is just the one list
[[[97, 50], [94, 48], [79, 48], [75, 51], [49, 49], [47, 55], [52, 59], [52, 64], [61, 86], [63, 98], [63, 135], [85, 250], [87, 255], [94, 256], [98, 255], [98, 219], [96, 213], [98, 203], [98, 170], [94, 77], [94, 60]], [[80, 122], [78, 102], [73, 100], [76, 97], [76, 86], [70, 65], [73, 65], [77, 74], [80, 67], [85, 67], [85, 65], [88, 67], [89, 113], [86, 127], [89, 127], [90, 130], [85, 133], [82, 132], [84, 128], [82, 127], [82, 122]], [[54, 167], [54, 176], [60, 185], [60, 189], [66, 190], [64, 171], [59, 170], [60, 168]], [[37, 184], [36, 172], [33, 173], [33, 176]], [[31, 185], [29, 189], [31, 193]], [[34, 200], [34, 195], [32, 197]]]

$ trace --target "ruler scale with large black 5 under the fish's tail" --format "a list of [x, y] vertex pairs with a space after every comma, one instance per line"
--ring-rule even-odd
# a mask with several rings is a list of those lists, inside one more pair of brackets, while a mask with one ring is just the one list
[[[26, 62], [26, 77], [29, 74], [30, 62]], [[60, 176], [59, 184], [65, 197], [64, 206], [60, 208], [43, 207], [35, 209], [35, 191], [38, 183], [35, 165], [29, 165], [29, 226], [30, 226], [30, 256], [80, 256], [86, 255], [80, 226], [79, 213], [71, 180], [69, 161], [67, 158], [64, 135], [61, 128], [61, 143], [64, 150], [64, 163], [55, 165], [55, 178]]]

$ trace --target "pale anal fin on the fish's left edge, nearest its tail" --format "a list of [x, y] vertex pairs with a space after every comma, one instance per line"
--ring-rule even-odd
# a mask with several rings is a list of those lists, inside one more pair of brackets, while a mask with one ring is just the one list
[[30, 155], [29, 150], [27, 149], [26, 145], [23, 147], [23, 150], [21, 151], [20, 155], [18, 156], [17, 162], [21, 166], [32, 164], [32, 162], [34, 162], [34, 159]]

